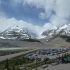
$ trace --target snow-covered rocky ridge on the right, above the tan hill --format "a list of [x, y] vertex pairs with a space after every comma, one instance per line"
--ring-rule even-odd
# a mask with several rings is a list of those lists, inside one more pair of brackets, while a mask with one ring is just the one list
[[64, 24], [60, 27], [57, 27], [56, 29], [46, 30], [42, 33], [42, 35], [45, 36], [51, 36], [57, 34], [70, 36], [70, 24], [68, 25]]

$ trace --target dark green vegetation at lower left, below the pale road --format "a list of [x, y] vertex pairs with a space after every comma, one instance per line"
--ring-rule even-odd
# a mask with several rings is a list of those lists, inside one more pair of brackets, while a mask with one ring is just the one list
[[26, 58], [25, 55], [26, 54], [0, 62], [0, 69], [4, 70], [6, 68], [9, 68], [8, 70], [14, 70], [15, 68], [15, 70], [20, 70], [20, 65], [25, 65], [34, 62], [34, 59]]

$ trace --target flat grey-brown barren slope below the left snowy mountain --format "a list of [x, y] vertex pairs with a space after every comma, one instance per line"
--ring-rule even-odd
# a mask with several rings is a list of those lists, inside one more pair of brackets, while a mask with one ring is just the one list
[[0, 48], [4, 47], [23, 47], [23, 48], [43, 48], [46, 47], [45, 44], [41, 42], [31, 42], [31, 41], [21, 41], [21, 40], [9, 40], [9, 39], [0, 39]]

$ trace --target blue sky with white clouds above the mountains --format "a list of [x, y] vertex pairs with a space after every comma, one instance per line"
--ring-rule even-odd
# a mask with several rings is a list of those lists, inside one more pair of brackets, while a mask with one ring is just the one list
[[70, 24], [70, 0], [0, 0], [0, 31], [19, 25], [38, 34]]

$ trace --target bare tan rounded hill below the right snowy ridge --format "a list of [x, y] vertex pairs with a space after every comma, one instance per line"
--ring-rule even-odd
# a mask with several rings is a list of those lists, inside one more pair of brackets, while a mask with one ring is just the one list
[[52, 40], [50, 41], [46, 41], [46, 39], [41, 39], [41, 42], [43, 42], [48, 48], [70, 47], [70, 43], [66, 42], [64, 39], [62, 39], [59, 36], [55, 37], [54, 39], [52, 38]]

